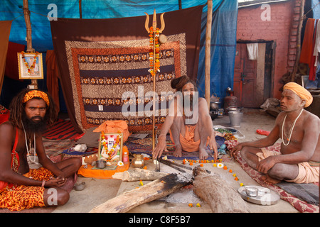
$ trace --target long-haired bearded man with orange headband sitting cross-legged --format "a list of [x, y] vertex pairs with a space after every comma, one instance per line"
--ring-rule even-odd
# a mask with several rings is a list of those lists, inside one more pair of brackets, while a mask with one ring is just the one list
[[[18, 211], [67, 203], [69, 194], [60, 187], [81, 162], [70, 158], [54, 163], [46, 156], [42, 133], [57, 116], [53, 99], [46, 92], [24, 89], [9, 109], [9, 121], [0, 125], [0, 208]], [[36, 155], [42, 167], [30, 169], [28, 161], [36, 162]]]

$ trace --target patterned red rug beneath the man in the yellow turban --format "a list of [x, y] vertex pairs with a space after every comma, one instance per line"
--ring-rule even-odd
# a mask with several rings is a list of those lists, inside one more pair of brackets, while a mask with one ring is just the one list
[[[235, 140], [228, 140], [226, 141], [228, 143], [227, 147], [228, 149], [233, 148], [235, 145], [237, 145], [238, 141]], [[273, 146], [270, 146], [267, 148], [267, 150], [277, 150], [279, 151], [279, 144], [275, 144]], [[262, 187], [267, 187], [274, 192], [278, 192], [280, 194], [280, 198], [283, 199], [284, 201], [287, 201], [289, 204], [294, 206], [295, 209], [297, 209], [299, 212], [302, 213], [319, 213], [319, 206], [315, 206], [312, 204], [308, 204], [306, 201], [302, 201], [301, 199], [298, 199], [296, 196], [293, 196], [292, 194], [289, 194], [285, 192], [283, 189], [278, 187], [277, 185], [269, 185], [266, 184], [262, 180], [262, 174], [260, 172], [257, 172], [257, 170], [252, 169], [249, 165], [247, 165], [247, 162], [242, 159], [240, 155], [240, 151], [237, 153], [235, 156], [235, 160], [237, 160], [245, 172], [254, 179], [257, 183], [259, 183]]]

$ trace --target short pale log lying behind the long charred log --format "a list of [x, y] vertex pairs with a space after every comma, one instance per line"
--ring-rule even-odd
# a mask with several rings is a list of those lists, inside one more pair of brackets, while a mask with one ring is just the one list
[[156, 180], [161, 177], [168, 175], [165, 172], [155, 172], [151, 170], [144, 169], [132, 169], [124, 172], [116, 172], [112, 178], [113, 179], [122, 179], [124, 182], [135, 182], [139, 180]]

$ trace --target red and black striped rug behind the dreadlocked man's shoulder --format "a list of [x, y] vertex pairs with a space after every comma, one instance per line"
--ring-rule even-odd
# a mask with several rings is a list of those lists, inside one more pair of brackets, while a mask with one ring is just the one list
[[58, 119], [48, 131], [43, 133], [43, 137], [48, 140], [74, 140], [80, 135], [82, 134], [75, 131], [71, 121], [62, 119]]

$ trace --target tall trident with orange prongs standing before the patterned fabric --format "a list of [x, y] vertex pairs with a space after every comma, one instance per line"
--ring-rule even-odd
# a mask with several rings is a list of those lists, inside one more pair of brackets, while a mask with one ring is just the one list
[[[159, 29], [159, 33], [162, 33], [162, 31], [164, 31], [164, 13], [161, 13], [160, 16], [160, 20], [161, 20], [161, 28]], [[144, 23], [144, 27], [146, 28], [146, 32], [150, 33], [150, 29], [149, 29], [149, 15], [148, 13], [146, 13], [146, 22]], [[154, 35], [156, 35], [156, 9], [154, 9], [154, 18], [153, 18], [153, 22], [152, 22], [152, 28], [153, 28], [153, 33]], [[155, 37], [155, 36], [154, 36]], [[154, 150], [155, 145], [156, 145], [156, 125], [155, 125], [155, 121], [156, 121], [156, 39], [154, 38], [153, 41], [153, 74], [152, 75], [152, 79], [153, 79], [153, 83], [154, 83], [154, 97], [152, 99], [153, 101], [153, 120], [152, 120], [152, 150]], [[156, 171], [160, 171], [160, 162], [159, 162], [159, 157], [156, 160]]]

